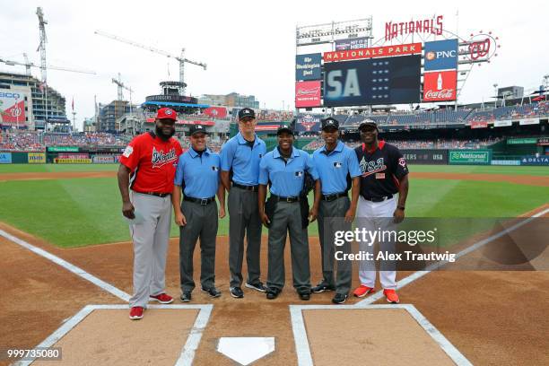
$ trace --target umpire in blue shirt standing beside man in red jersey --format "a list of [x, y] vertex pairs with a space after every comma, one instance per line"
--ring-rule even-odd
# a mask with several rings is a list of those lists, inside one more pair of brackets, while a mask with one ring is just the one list
[[201, 248], [202, 292], [211, 297], [221, 295], [215, 288], [215, 238], [218, 225], [215, 194], [220, 202], [219, 217], [225, 216], [225, 190], [220, 184], [221, 159], [206, 147], [204, 126], [190, 127], [190, 142], [191, 147], [179, 157], [171, 196], [175, 222], [180, 228], [179, 274], [183, 302], [191, 301], [191, 292], [195, 288], [193, 254], [198, 239]]

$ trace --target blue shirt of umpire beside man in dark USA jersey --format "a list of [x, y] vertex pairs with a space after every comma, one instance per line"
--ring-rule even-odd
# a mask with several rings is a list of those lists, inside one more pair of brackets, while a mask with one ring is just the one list
[[323, 195], [346, 191], [347, 174], [352, 179], [362, 175], [356, 153], [342, 141], [338, 141], [330, 153], [327, 153], [326, 146], [318, 148], [313, 153], [313, 161], [322, 182]]

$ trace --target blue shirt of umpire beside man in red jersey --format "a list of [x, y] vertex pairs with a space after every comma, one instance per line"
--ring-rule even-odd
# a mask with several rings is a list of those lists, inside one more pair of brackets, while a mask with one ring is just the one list
[[174, 184], [183, 186], [185, 196], [194, 198], [210, 198], [217, 193], [219, 187], [221, 159], [210, 149], [200, 156], [191, 147], [179, 157]]

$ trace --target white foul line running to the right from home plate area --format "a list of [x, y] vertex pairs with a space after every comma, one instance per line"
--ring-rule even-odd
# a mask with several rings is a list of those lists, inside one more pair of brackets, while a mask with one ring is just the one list
[[[484, 240], [477, 241], [472, 246], [470, 246], [468, 248], [465, 248], [465, 249], [461, 250], [460, 252], [458, 252], [456, 254], [456, 259], [458, 259], [459, 257], [466, 256], [467, 254], [471, 253], [472, 251], [475, 251], [478, 248], [484, 247], [486, 244], [488, 244], [492, 240], [496, 240], [498, 238], [501, 238], [503, 235], [509, 234], [511, 231], [517, 230], [519, 227], [521, 227], [523, 225], [526, 225], [528, 222], [531, 222], [536, 217], [543, 216], [545, 213], [549, 213], [549, 208], [546, 208], [544, 211], [541, 211], [539, 213], [536, 213], [536, 214], [528, 217], [523, 222], [515, 223], [514, 225], [510, 226], [509, 228], [507, 228], [503, 231], [500, 231], [497, 234], [493, 234], [492, 236], [490, 236], [490, 237], [488, 237]], [[445, 266], [448, 263], [449, 262], [446, 261], [446, 260], [441, 260], [437, 263], [433, 263], [432, 265], [425, 267], [425, 269], [423, 271], [414, 272], [414, 274], [410, 274], [410, 275], [406, 276], [405, 278], [403, 278], [402, 280], [398, 281], [396, 283], [396, 289], [397, 290], [401, 289], [401, 288], [405, 287], [406, 285], [408, 285], [410, 283], [413, 283], [415, 280], [418, 280], [418, 279], [422, 278], [425, 274], [429, 274], [432, 271], [434, 271], [435, 269], [439, 268], [440, 266]], [[357, 302], [353, 306], [362, 307], [362, 306], [365, 306], [365, 305], [370, 305], [371, 303], [373, 303], [375, 301], [378, 301], [382, 297], [383, 297], [383, 292], [376, 292], [376, 293], [370, 295], [368, 298]]]

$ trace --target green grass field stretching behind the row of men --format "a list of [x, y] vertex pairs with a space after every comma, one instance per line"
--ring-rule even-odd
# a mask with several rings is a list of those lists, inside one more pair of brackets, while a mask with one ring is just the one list
[[[0, 221], [60, 247], [129, 240], [127, 224], [120, 213], [116, 179], [0, 181], [0, 202]], [[548, 202], [547, 187], [412, 179], [406, 214], [410, 217], [514, 217]], [[220, 222], [219, 234], [227, 233], [228, 219], [225, 218]], [[171, 235], [179, 235], [175, 224]], [[316, 222], [309, 227], [309, 235], [318, 235]]]

